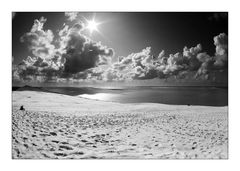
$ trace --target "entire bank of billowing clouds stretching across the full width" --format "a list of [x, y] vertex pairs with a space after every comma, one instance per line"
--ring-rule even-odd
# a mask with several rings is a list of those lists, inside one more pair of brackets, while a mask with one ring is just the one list
[[[69, 15], [70, 14], [66, 14]], [[77, 15], [77, 14], [76, 14]], [[74, 15], [73, 15], [74, 16]], [[101, 42], [91, 40], [84, 35], [83, 22], [73, 26], [63, 25], [54, 36], [51, 30], [45, 30], [47, 19], [34, 20], [31, 30], [20, 41], [27, 44], [32, 52], [19, 65], [13, 66], [15, 80], [143, 80], [143, 79], [184, 79], [188, 73], [194, 78], [209, 79], [211, 72], [227, 69], [228, 37], [221, 33], [214, 37], [216, 52], [213, 56], [203, 51], [201, 44], [184, 47], [182, 52], [166, 55], [161, 50], [154, 56], [151, 47], [128, 56], [120, 56], [112, 62], [114, 50], [103, 46]]]

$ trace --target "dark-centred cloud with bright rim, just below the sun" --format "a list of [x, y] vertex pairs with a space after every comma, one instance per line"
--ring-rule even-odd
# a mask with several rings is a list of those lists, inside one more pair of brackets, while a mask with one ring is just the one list
[[62, 57], [65, 59], [64, 72], [67, 74], [75, 74], [107, 64], [108, 58], [114, 55], [113, 49], [84, 36], [81, 33], [83, 28], [83, 23], [77, 23], [61, 38], [63, 40]]

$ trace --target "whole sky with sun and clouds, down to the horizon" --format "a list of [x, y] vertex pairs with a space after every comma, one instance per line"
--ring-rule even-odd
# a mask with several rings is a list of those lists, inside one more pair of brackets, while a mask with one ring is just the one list
[[228, 13], [16, 12], [13, 85], [228, 84]]

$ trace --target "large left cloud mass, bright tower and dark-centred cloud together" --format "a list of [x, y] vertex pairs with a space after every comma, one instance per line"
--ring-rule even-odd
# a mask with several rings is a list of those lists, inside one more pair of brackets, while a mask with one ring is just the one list
[[42, 81], [62, 78], [101, 79], [97, 70], [111, 61], [114, 51], [82, 34], [84, 23], [64, 25], [54, 39], [51, 30], [44, 30], [47, 19], [35, 20], [31, 30], [20, 41], [26, 43], [32, 56], [13, 69], [16, 80]]

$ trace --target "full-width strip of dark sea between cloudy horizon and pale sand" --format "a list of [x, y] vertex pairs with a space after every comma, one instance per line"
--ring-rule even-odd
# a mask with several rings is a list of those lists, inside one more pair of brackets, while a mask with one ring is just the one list
[[20, 87], [13, 91], [44, 91], [79, 98], [119, 103], [161, 103], [173, 105], [228, 106], [227, 87], [159, 87], [139, 86], [120, 88], [94, 87]]

